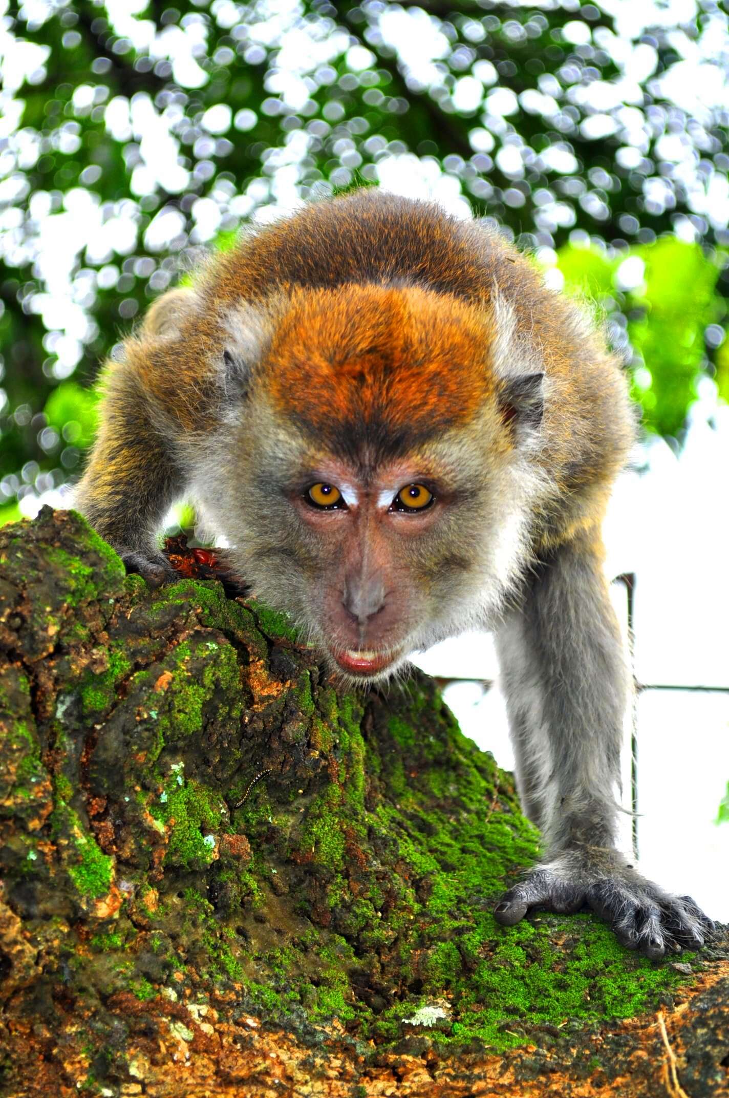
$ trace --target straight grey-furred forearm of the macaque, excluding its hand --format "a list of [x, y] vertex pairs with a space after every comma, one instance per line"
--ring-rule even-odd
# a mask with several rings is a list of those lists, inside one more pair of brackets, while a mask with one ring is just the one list
[[602, 562], [588, 547], [570, 542], [536, 567], [497, 650], [527, 757], [520, 781], [548, 849], [612, 845], [629, 684]]

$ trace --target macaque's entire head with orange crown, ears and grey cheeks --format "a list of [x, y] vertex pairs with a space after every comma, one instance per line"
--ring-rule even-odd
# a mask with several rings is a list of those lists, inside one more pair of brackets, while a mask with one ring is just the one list
[[346, 284], [226, 314], [195, 495], [255, 593], [350, 682], [487, 624], [514, 579], [542, 373], [500, 376], [496, 312]]

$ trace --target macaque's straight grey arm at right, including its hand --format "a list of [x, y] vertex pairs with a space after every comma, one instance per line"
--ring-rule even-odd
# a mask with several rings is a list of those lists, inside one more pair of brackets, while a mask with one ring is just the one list
[[553, 550], [497, 634], [519, 793], [546, 850], [495, 916], [512, 926], [535, 905], [586, 904], [624, 945], [655, 959], [676, 944], [699, 946], [714, 925], [691, 897], [664, 893], [616, 849], [631, 687], [602, 561], [598, 537]]

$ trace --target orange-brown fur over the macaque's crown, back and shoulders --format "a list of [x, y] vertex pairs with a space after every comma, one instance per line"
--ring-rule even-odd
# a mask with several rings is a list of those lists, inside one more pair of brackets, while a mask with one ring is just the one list
[[269, 301], [282, 302], [269, 325], [270, 356], [254, 372], [266, 367], [284, 416], [336, 445], [337, 432], [351, 442], [355, 421], [378, 411], [391, 442], [397, 425], [411, 438], [428, 426], [439, 435], [495, 400], [496, 296], [550, 386], [538, 464], [559, 502], [536, 516], [537, 545], [597, 529], [635, 429], [621, 371], [598, 335], [495, 234], [369, 190], [244, 236], [209, 261], [193, 291], [153, 306], [125, 341], [124, 361], [108, 368], [82, 506], [113, 539], [117, 501], [144, 491], [158, 468], [175, 475], [176, 457], [184, 463], [190, 440], [215, 428], [223, 317], [242, 303], [265, 313]]

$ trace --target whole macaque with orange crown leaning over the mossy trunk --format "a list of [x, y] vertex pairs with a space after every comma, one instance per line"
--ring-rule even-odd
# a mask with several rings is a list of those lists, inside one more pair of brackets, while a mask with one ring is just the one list
[[545, 856], [496, 907], [587, 905], [649, 957], [713, 923], [616, 849], [630, 674], [601, 525], [635, 437], [577, 306], [498, 235], [366, 190], [214, 256], [109, 366], [78, 506], [152, 583], [180, 496], [348, 683], [495, 630]]

